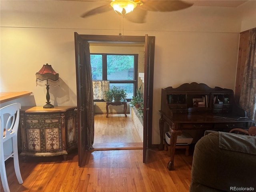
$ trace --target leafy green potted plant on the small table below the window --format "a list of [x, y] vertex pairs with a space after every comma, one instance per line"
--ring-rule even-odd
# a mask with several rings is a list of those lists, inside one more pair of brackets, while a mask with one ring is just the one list
[[106, 101], [108, 102], [126, 102], [126, 90], [113, 86], [112, 89], [105, 92]]

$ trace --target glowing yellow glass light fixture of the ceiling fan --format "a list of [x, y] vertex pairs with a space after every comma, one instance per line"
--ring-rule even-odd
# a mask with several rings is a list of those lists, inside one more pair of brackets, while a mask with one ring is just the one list
[[110, 3], [118, 15], [126, 15], [136, 8], [137, 4], [132, 0], [114, 0]]

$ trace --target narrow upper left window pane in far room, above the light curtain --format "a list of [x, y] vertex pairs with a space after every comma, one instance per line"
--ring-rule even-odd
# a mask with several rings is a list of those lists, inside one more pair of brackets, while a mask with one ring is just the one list
[[102, 55], [91, 54], [92, 80], [102, 80]]

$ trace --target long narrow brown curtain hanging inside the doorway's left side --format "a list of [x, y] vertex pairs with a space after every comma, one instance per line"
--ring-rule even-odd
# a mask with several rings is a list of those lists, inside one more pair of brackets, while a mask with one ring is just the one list
[[92, 90], [92, 68], [90, 62], [89, 43], [84, 46], [86, 70], [85, 70], [85, 90], [86, 90], [86, 129], [87, 129], [87, 146], [88, 150], [92, 150], [94, 142], [94, 105], [93, 105], [93, 90]]

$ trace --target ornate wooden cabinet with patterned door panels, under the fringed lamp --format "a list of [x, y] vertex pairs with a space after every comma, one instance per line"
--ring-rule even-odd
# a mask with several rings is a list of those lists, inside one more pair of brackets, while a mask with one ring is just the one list
[[75, 106], [54, 108], [22, 107], [20, 126], [23, 160], [26, 156], [57, 156], [67, 158], [77, 148], [77, 112]]

